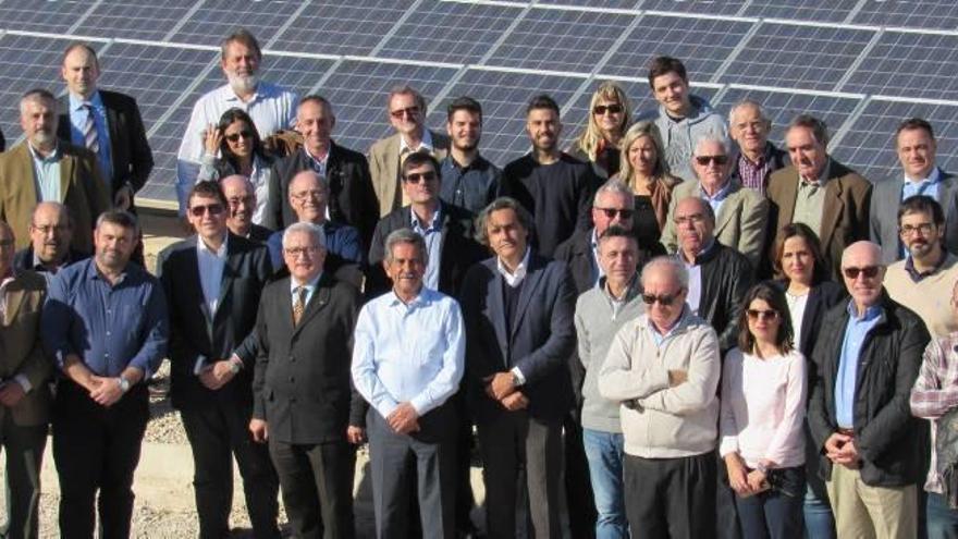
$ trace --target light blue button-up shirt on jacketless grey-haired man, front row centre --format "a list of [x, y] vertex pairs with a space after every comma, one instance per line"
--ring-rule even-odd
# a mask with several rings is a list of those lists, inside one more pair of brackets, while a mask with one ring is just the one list
[[388, 292], [359, 311], [354, 339], [353, 382], [382, 417], [404, 402], [421, 416], [459, 387], [463, 315], [445, 294], [423, 286], [406, 305]]

